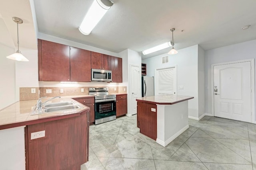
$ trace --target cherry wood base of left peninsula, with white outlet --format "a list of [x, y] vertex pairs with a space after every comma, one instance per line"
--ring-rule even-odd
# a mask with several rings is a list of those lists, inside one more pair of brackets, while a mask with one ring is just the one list
[[[88, 114], [26, 126], [26, 170], [80, 170], [88, 161]], [[45, 137], [31, 140], [44, 130]]]

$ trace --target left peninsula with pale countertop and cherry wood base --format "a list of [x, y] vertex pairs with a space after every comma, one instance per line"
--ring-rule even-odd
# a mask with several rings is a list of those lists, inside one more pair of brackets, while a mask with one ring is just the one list
[[59, 102], [79, 107], [32, 115], [37, 100], [26, 100], [0, 110], [0, 169], [80, 170], [88, 161], [90, 108], [70, 98], [47, 104]]

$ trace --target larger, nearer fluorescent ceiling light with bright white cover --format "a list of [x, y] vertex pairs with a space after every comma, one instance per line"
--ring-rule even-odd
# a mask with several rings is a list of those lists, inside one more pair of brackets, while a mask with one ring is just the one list
[[112, 5], [113, 3], [109, 0], [94, 0], [78, 28], [79, 31], [84, 35], [89, 35]]

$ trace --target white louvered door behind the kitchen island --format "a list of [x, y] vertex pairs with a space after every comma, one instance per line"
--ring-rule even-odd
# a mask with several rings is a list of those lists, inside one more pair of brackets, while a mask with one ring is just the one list
[[176, 66], [156, 69], [156, 95], [177, 94]]

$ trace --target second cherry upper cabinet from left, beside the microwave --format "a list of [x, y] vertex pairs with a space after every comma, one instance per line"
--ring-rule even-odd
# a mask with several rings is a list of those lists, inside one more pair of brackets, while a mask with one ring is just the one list
[[70, 81], [91, 81], [91, 51], [70, 47]]

